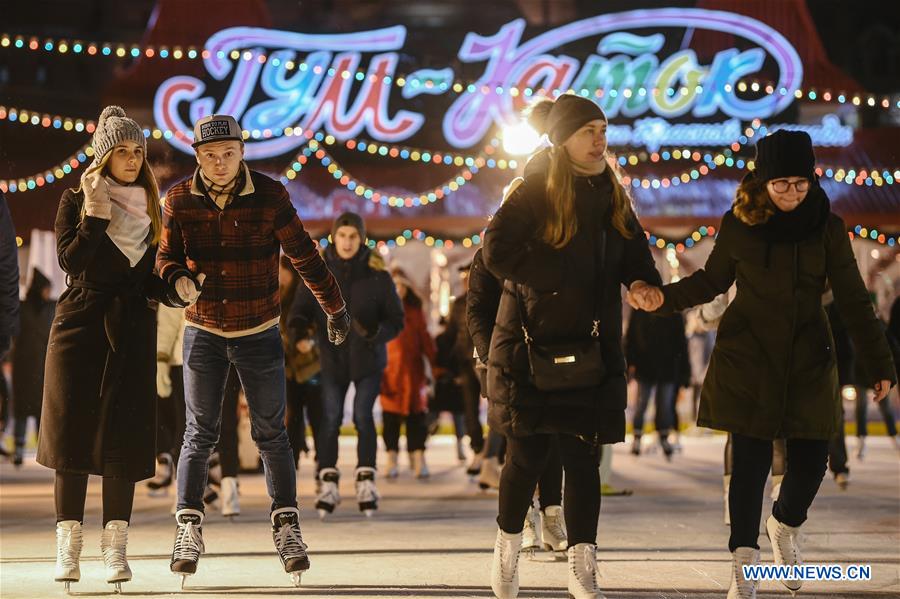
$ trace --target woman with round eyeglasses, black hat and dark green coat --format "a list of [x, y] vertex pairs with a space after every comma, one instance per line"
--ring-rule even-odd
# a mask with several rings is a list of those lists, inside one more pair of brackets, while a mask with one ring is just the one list
[[[761, 139], [755, 170], [738, 186], [706, 265], [662, 288], [662, 311], [672, 312], [737, 284], [719, 324], [697, 420], [732, 437], [729, 599], [756, 596], [757, 582], [744, 579], [741, 567], [759, 561], [774, 439], [785, 440], [787, 468], [766, 534], [776, 564], [802, 563], [798, 532], [825, 475], [828, 440], [842, 425], [834, 341], [822, 308], [826, 281], [875, 400], [897, 381], [846, 226], [831, 212], [814, 168], [806, 133], [782, 130]], [[651, 303], [634, 295], [635, 304]], [[782, 583], [796, 592], [801, 581]]]

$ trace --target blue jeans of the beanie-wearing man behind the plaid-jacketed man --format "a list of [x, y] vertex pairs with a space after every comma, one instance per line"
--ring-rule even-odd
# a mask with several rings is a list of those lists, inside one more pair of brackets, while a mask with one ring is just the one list
[[337, 465], [338, 435], [344, 419], [344, 398], [350, 383], [356, 387], [353, 398], [353, 425], [356, 427], [356, 466], [375, 467], [378, 439], [375, 436], [375, 418], [372, 409], [381, 392], [381, 372], [370, 374], [356, 381], [322, 373], [322, 423], [316, 438], [318, 469]]

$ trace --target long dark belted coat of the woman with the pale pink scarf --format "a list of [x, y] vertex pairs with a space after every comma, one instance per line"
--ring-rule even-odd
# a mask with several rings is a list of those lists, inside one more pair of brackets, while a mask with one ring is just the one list
[[131, 267], [108, 220], [81, 218], [83, 203], [67, 190], [56, 213], [69, 287], [50, 329], [37, 461], [136, 482], [156, 465], [155, 302], [174, 306], [177, 296], [153, 272], [155, 245]]

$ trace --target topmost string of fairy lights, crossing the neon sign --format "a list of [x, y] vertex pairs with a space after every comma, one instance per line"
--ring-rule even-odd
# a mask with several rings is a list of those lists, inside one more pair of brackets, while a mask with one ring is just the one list
[[[114, 43], [114, 42], [96, 42], [96, 41], [84, 41], [84, 40], [67, 40], [67, 39], [56, 39], [56, 38], [43, 38], [39, 39], [36, 36], [24, 36], [24, 35], [14, 35], [10, 33], [0, 34], [0, 48], [11, 49], [11, 50], [23, 50], [23, 51], [31, 51], [31, 52], [44, 52], [44, 53], [56, 53], [59, 55], [86, 55], [92, 57], [99, 58], [113, 58], [113, 59], [156, 59], [156, 60], [208, 60], [213, 57], [213, 53], [206, 49], [200, 48], [197, 46], [168, 46], [168, 45], [141, 45], [141, 44], [124, 44], [124, 43]], [[234, 61], [256, 61], [261, 64], [265, 64], [267, 62], [271, 62], [274, 66], [281, 66], [282, 59], [271, 56], [267, 52], [256, 51], [256, 50], [218, 50], [215, 53], [215, 57], [224, 60], [231, 59]], [[367, 78], [370, 81], [377, 82], [379, 79], [385, 85], [396, 85], [397, 87], [406, 87], [409, 86], [421, 86], [424, 88], [438, 88], [441, 91], [453, 91], [455, 93], [481, 93], [481, 94], [504, 94], [509, 93], [513, 97], [522, 95], [524, 97], [530, 97], [539, 93], [546, 93], [548, 91], [566, 91], [566, 90], [545, 90], [542, 88], [533, 88], [533, 87], [525, 87], [520, 88], [516, 86], [502, 86], [502, 85], [494, 85], [485, 82], [472, 82], [472, 81], [447, 81], [447, 80], [436, 80], [430, 78], [418, 78], [407, 75], [398, 76], [398, 77], [390, 77], [390, 76], [376, 76], [373, 74], [369, 74], [364, 71], [348, 71], [348, 70], [337, 70], [333, 67], [324, 68], [321, 65], [311, 65], [304, 61], [294, 61], [294, 60], [284, 60], [284, 67], [289, 71], [299, 70], [306, 71], [312, 69], [315, 74], [327, 74], [329, 77], [342, 77], [344, 79], [354, 78], [358, 81], [364, 81]], [[731, 86], [726, 86], [725, 91], [732, 91]], [[755, 92], [755, 93], [766, 93], [769, 95], [780, 94], [787, 95], [789, 90], [784, 87], [775, 88], [771, 83], [767, 83], [764, 81], [760, 81], [757, 79], [751, 80], [741, 80], [738, 81], [735, 86], [737, 91], [746, 93], [746, 92]], [[703, 86], [697, 85], [695, 86], [695, 91], [697, 93], [702, 92]], [[575, 93], [579, 93], [581, 95], [590, 96], [595, 95], [598, 98], [604, 97], [606, 93], [609, 93], [611, 96], [616, 96], [621, 93], [624, 97], [630, 98], [632, 95], [638, 96], [646, 96], [647, 94], [651, 94], [654, 96], [658, 96], [660, 94], [673, 95], [676, 93], [687, 94], [690, 93], [690, 89], [687, 87], [679, 87], [678, 89], [669, 88], [669, 89], [660, 89], [660, 88], [646, 88], [646, 87], [636, 87], [636, 88], [625, 88], [622, 90], [610, 90], [606, 92], [603, 89], [580, 89], [580, 90], [570, 90]], [[882, 109], [890, 109], [890, 108], [900, 108], [900, 97], [894, 97], [888, 95], [876, 95], [876, 94], [867, 94], [867, 93], [848, 93], [843, 91], [833, 91], [830, 89], [818, 90], [815, 88], [807, 88], [807, 89], [797, 89], [793, 92], [794, 96], [797, 99], [806, 99], [808, 101], [820, 101], [826, 103], [837, 103], [837, 104], [852, 104], [854, 106], [868, 106], [872, 108], [882, 108]]]

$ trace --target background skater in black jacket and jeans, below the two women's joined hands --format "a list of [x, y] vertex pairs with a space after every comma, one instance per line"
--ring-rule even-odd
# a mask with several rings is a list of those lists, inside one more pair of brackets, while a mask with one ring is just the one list
[[656, 432], [666, 459], [671, 460], [674, 448], [669, 432], [674, 426], [675, 398], [678, 390], [690, 384], [691, 365], [688, 361], [687, 337], [681, 314], [654, 316], [643, 310], [631, 313], [625, 334], [625, 361], [628, 372], [638, 382], [638, 405], [634, 411], [634, 443], [631, 453], [641, 454], [644, 432], [644, 412], [650, 396], [656, 406]]

